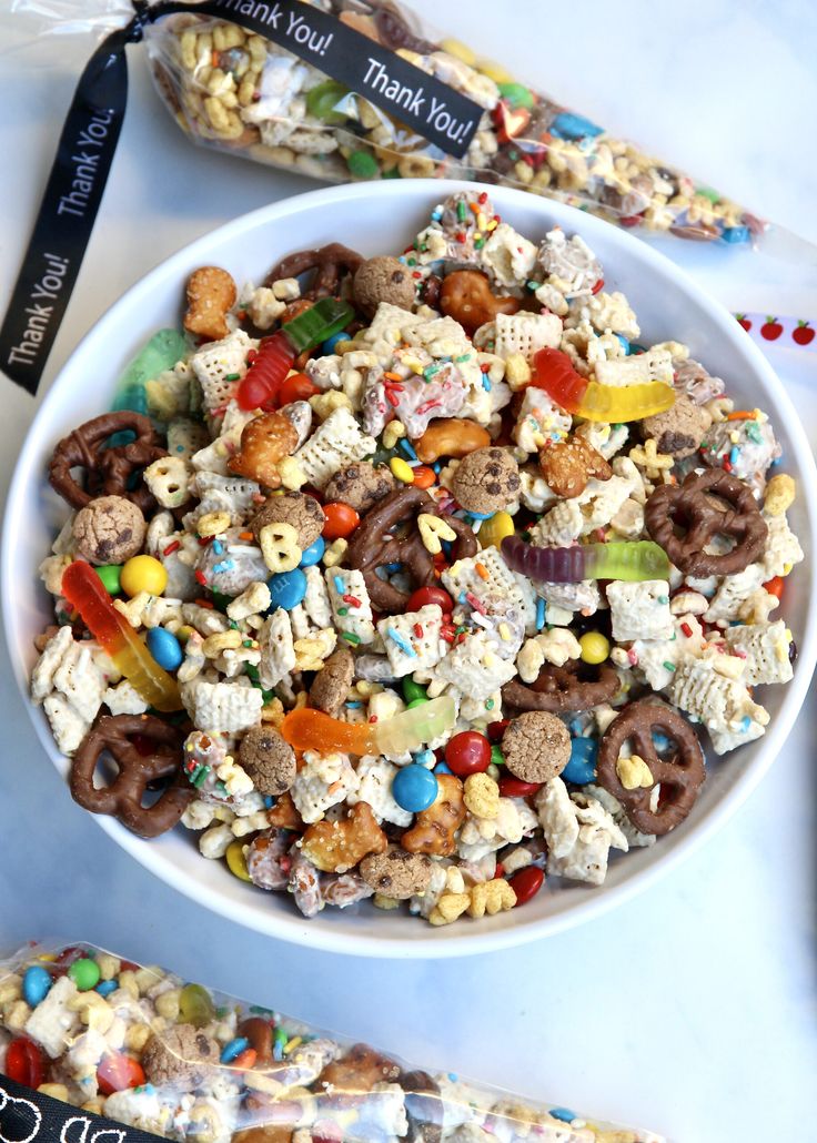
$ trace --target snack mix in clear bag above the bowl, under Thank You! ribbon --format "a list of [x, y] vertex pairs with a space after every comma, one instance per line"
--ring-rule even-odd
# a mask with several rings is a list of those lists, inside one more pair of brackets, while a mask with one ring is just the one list
[[[458, 159], [306, 59], [237, 23], [184, 13], [145, 30], [157, 89], [197, 143], [313, 178], [471, 178], [625, 227], [754, 241], [742, 206], [519, 82], [385, 0], [306, 0], [482, 109]], [[235, 10], [251, 5], [235, 5]], [[256, 6], [263, 8], [262, 5]]]

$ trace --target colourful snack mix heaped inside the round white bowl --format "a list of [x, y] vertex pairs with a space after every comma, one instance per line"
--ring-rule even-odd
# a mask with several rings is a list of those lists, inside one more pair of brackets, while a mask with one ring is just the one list
[[600, 885], [702, 741], [764, 734], [794, 482], [580, 237], [464, 190], [402, 255], [202, 266], [186, 304], [50, 463], [31, 693], [80, 805], [306, 917], [440, 926]]

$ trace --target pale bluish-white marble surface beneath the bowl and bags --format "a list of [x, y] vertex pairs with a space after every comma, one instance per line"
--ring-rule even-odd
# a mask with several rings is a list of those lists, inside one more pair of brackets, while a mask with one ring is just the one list
[[[438, 19], [444, 10], [447, 30], [817, 242], [817, 15], [801, 0], [513, 0], [502, 17], [483, 0], [417, 7]], [[9, 31], [10, 17], [0, 19]], [[0, 304], [81, 61], [79, 45], [55, 47], [56, 70], [31, 69], [26, 55], [0, 63]], [[191, 147], [149, 89], [136, 49], [130, 58], [120, 153], [47, 379], [150, 266], [310, 185]], [[817, 275], [802, 261], [724, 259], [678, 243], [670, 253], [732, 309], [817, 318]], [[792, 351], [774, 359], [812, 440], [816, 360]], [[5, 489], [34, 406], [8, 382], [0, 390]], [[177, 896], [70, 802], [10, 681], [0, 708], [2, 945], [96, 941], [432, 1066], [684, 1143], [815, 1137], [814, 700], [745, 808], [650, 892], [513, 952], [400, 965], [302, 952]]]

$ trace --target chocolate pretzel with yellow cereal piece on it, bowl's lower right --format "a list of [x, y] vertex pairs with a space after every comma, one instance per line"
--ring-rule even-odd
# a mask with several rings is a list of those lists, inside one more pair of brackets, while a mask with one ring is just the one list
[[[658, 757], [654, 730], [660, 730], [675, 743], [671, 760]], [[627, 790], [622, 785], [616, 764], [627, 741], [652, 775], [652, 784], [647, 788]], [[620, 801], [636, 830], [668, 833], [695, 805], [706, 769], [698, 736], [689, 722], [668, 706], [640, 700], [625, 706], [607, 729], [599, 748], [596, 774], [599, 784]], [[656, 785], [660, 785], [660, 798], [657, 807], [651, 808]]]

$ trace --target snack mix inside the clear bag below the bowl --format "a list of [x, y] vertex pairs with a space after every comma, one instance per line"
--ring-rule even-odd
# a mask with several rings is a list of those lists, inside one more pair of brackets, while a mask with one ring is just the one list
[[57, 1138], [56, 1117], [38, 1135], [41, 1097], [72, 1105], [62, 1140], [131, 1137], [91, 1118], [104, 1116], [197, 1143], [662, 1143], [89, 945], [29, 948], [0, 965], [3, 1140]]

